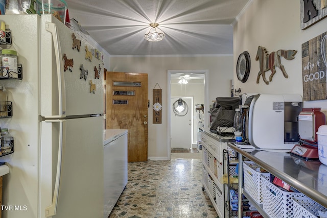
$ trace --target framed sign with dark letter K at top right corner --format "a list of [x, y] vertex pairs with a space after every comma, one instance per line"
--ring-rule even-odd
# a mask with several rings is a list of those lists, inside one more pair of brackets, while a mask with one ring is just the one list
[[300, 0], [301, 30], [327, 16], [327, 0]]

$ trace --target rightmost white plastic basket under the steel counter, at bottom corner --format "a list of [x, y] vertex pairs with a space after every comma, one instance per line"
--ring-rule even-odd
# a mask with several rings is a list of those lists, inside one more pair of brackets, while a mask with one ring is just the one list
[[306, 198], [292, 198], [294, 205], [294, 218], [317, 218], [319, 212], [325, 212], [327, 209], [312, 199]]

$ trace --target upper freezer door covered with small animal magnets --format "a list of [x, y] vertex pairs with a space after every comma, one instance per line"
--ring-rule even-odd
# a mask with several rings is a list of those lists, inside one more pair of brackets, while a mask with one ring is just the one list
[[[59, 36], [58, 54], [55, 52], [53, 38], [56, 34], [50, 31], [49, 26], [52, 26], [50, 23], [54, 23]], [[73, 34], [81, 40], [80, 51], [73, 49]], [[82, 35], [74, 33], [52, 15], [41, 16], [41, 116], [62, 117], [63, 114], [70, 116], [103, 113], [103, 62], [94, 55], [86, 59], [89, 54], [87, 52], [95, 54], [97, 51], [97, 47], [87, 42], [89, 40], [87, 37], [82, 38]], [[59, 71], [57, 66], [61, 68]], [[99, 79], [95, 77], [95, 68], [100, 71]], [[58, 81], [61, 77], [58, 77], [58, 72], [64, 76], [61, 89], [61, 83]], [[91, 84], [96, 87], [95, 93], [90, 91]], [[64, 90], [66, 95], [60, 96], [61, 93], [64, 94]], [[65, 103], [62, 102], [64, 99]], [[64, 111], [60, 111], [60, 104], [66, 106]]]

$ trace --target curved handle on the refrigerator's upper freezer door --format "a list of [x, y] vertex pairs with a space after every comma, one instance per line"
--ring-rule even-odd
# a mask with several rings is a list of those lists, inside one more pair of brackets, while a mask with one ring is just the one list
[[61, 46], [58, 35], [57, 26], [55, 23], [46, 22], [45, 23], [46, 31], [52, 34], [52, 40], [55, 47], [55, 57], [56, 57], [56, 65], [57, 65], [57, 79], [58, 79], [58, 94], [59, 94], [59, 114], [52, 116], [45, 116], [45, 118], [62, 118], [66, 115], [66, 88], [65, 88], [65, 79], [62, 70], [62, 54], [61, 54]]

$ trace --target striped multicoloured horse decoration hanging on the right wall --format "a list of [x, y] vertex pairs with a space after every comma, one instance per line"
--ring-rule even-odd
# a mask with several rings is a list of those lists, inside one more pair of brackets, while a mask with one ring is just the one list
[[[268, 85], [272, 81], [272, 77], [276, 73], [275, 67], [278, 67], [282, 70], [285, 78], [288, 78], [284, 65], [281, 63], [281, 56], [286, 60], [292, 60], [297, 53], [296, 50], [278, 50], [277, 52], [272, 52], [268, 54], [268, 51], [265, 47], [258, 46], [258, 52], [256, 52], [255, 60], [259, 60], [260, 71], [258, 77], [256, 78], [256, 83], [259, 83], [260, 75], [262, 79]], [[271, 75], [269, 77], [269, 82], [266, 79], [266, 71], [271, 70]]]

